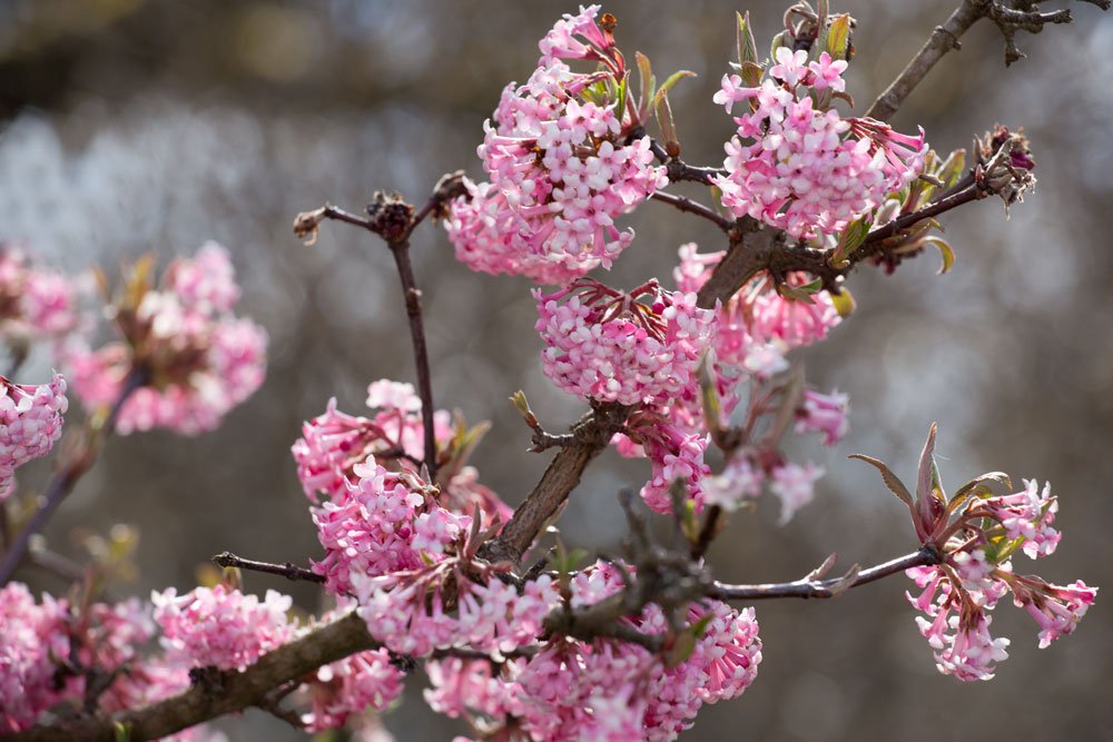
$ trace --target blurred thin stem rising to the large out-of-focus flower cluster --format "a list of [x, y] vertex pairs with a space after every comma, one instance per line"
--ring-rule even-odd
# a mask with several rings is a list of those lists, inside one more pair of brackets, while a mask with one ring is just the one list
[[89, 429], [86, 432], [86, 439], [82, 447], [72, 454], [70, 461], [50, 481], [47, 491], [41, 497], [39, 509], [36, 511], [28, 524], [16, 536], [16, 540], [4, 553], [3, 561], [0, 562], [0, 585], [7, 584], [20, 562], [23, 561], [23, 556], [30, 546], [31, 537], [43, 528], [58, 505], [73, 491], [73, 487], [85, 476], [86, 472], [97, 463], [105, 442], [116, 429], [116, 422], [119, 418], [124, 403], [147, 383], [147, 370], [144, 367], [134, 366], [131, 368], [124, 380], [124, 386], [120, 388], [119, 397], [117, 397], [116, 403], [109, 409], [104, 423], [97, 428], [90, 424]]

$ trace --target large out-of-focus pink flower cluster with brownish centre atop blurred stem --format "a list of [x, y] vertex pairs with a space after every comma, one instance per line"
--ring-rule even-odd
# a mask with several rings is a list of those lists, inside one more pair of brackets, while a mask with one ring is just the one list
[[210, 431], [263, 383], [266, 334], [232, 314], [239, 288], [223, 247], [209, 243], [196, 257], [175, 260], [158, 288], [150, 268], [149, 260], [136, 265], [114, 307], [122, 339], [96, 350], [85, 343], [67, 348], [73, 389], [89, 409], [126, 397], [120, 433]]

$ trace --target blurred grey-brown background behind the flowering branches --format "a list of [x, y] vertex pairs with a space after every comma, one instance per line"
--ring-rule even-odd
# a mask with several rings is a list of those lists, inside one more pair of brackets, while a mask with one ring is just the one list
[[[784, 7], [604, 7], [628, 57], [647, 53], [659, 76], [699, 75], [672, 96], [688, 161], [721, 162], [731, 131], [711, 96], [733, 50], [733, 12], [750, 10], [761, 48]], [[836, 7], [858, 18], [848, 85], [857, 111], [952, 8]], [[996, 30], [977, 26], [895, 118], [903, 130], [923, 126], [940, 151], [998, 121], [1024, 126], [1038, 188], [1011, 218], [996, 199], [947, 215], [958, 251], [947, 276], [935, 276], [930, 254], [890, 277], [853, 276], [857, 314], [801, 355], [809, 380], [850, 394], [851, 433], [834, 451], [794, 449], [828, 468], [816, 502], [785, 527], [768, 497], [736, 516], [711, 553], [720, 578], [791, 580], [830, 552], [845, 568], [912, 551], [903, 507], [873, 469], [845, 456], [866, 453], [912, 477], [939, 421], [952, 487], [991, 469], [1053, 483], [1065, 536], [1032, 571], [1113, 583], [1113, 16], [1073, 9], [1073, 26], [1022, 34], [1028, 59], [1007, 72]], [[165, 261], [216, 239], [243, 281], [242, 311], [270, 335], [266, 384], [218, 432], [114, 441], [48, 530], [56, 548], [76, 555], [81, 530], [135, 524], [141, 573], [121, 591], [140, 596], [190, 588], [198, 565], [224, 550], [279, 562], [319, 555], [288, 454], [301, 422], [331, 396], [358, 414], [368, 382], [412, 380], [413, 370], [386, 250], [332, 224], [307, 248], [290, 222], [326, 200], [359, 210], [380, 188], [423, 200], [446, 170], [480, 175], [483, 119], [508, 81], [529, 76], [536, 40], [570, 10], [484, 0], [0, 2], [2, 236], [75, 273], [111, 273], [148, 250]], [[617, 285], [667, 277], [683, 241], [721, 247], [713, 229], [664, 205], [650, 202], [628, 224], [639, 236], [607, 276]], [[473, 463], [518, 503], [549, 455], [524, 453], [528, 431], [506, 396], [524, 389], [553, 431], [582, 405], [541, 375], [528, 281], [471, 274], [430, 226], [415, 236], [414, 260], [436, 400], [493, 423]], [[41, 380], [48, 367], [36, 357], [23, 377]], [[647, 475], [646, 463], [602, 456], [561, 522], [567, 540], [615, 551], [624, 531], [615, 492]], [[62, 587], [32, 570], [22, 577]], [[1031, 619], [1003, 604], [993, 627], [1013, 639], [1011, 659], [993, 682], [962, 684], [936, 672], [903, 595], [909, 585], [894, 577], [838, 601], [760, 604], [758, 681], [740, 700], [706, 708], [683, 739], [1113, 739], [1104, 600], [1074, 636], [1043, 651]], [[319, 604], [308, 585], [252, 574], [247, 587], [288, 591], [309, 611]], [[463, 732], [424, 708], [423, 683], [412, 677], [386, 726], [400, 740]], [[303, 739], [256, 712], [220, 726], [237, 741]]]

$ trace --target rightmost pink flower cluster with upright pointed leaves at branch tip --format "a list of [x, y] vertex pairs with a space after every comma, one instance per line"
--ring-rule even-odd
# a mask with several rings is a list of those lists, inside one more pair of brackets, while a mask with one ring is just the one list
[[923, 611], [920, 633], [935, 650], [939, 672], [964, 681], [989, 680], [995, 664], [1008, 656], [1007, 639], [989, 634], [997, 601], [1007, 593], [1040, 625], [1040, 646], [1074, 631], [1093, 605], [1097, 588], [1081, 580], [1074, 585], [1052, 585], [1036, 576], [1013, 572], [1012, 557], [1031, 558], [1055, 551], [1060, 533], [1052, 527], [1058, 503], [1050, 486], [1035, 481], [1013, 492], [1008, 476], [992, 472], [972, 479], [947, 497], [935, 464], [935, 426], [920, 457], [915, 496], [888, 467], [876, 466], [889, 488], [908, 506], [925, 550], [936, 564], [908, 570], [918, 595], [908, 595]]

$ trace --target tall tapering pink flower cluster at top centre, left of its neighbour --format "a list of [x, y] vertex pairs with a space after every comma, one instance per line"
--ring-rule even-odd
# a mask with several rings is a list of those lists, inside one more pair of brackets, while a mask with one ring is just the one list
[[[445, 220], [475, 270], [565, 284], [610, 267], [633, 239], [614, 218], [668, 185], [648, 137], [630, 140], [619, 108], [626, 66], [598, 6], [565, 16], [541, 41], [529, 81], [503, 91], [479, 148], [490, 184], [469, 184]], [[598, 62], [577, 73], [562, 59]], [[603, 97], [595, 95], [605, 88]], [[591, 93], [589, 96], [589, 93]]]

